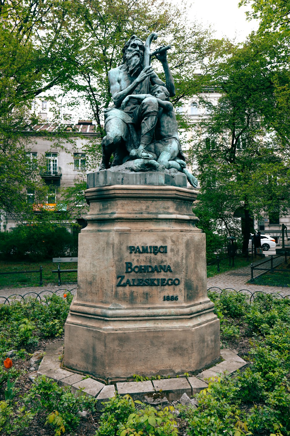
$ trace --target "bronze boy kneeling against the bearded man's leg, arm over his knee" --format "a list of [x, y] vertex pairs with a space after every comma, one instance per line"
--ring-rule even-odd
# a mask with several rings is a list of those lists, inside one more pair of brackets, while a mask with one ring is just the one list
[[[151, 89], [151, 95], [153, 95], [158, 102], [157, 125], [154, 132], [155, 141], [147, 146], [141, 143], [139, 148], [131, 150], [130, 157], [137, 159], [141, 155], [147, 159], [157, 160], [157, 164], [160, 166], [164, 166], [167, 169], [174, 168], [186, 174], [189, 183], [193, 187], [197, 187], [197, 179], [186, 169], [185, 158], [178, 139], [177, 120], [173, 104], [169, 101], [168, 90], [162, 85], [154, 85]], [[128, 95], [123, 100], [122, 105], [126, 106], [130, 99], [137, 99], [142, 102], [143, 99], [151, 95]], [[144, 121], [146, 122], [146, 119]]]

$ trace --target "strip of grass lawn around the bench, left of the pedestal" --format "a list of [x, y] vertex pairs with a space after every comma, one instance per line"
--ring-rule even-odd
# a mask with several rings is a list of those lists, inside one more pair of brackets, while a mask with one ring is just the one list
[[[57, 269], [58, 264], [52, 263], [49, 260], [41, 262], [6, 262], [0, 261], [0, 272], [16, 272], [16, 271], [33, 271], [39, 270], [42, 266], [42, 281], [43, 285], [49, 283], [58, 283], [58, 275], [56, 272], [51, 272]], [[60, 269], [77, 269], [77, 262], [61, 263]], [[61, 283], [74, 283], [77, 282], [77, 272], [63, 272], [60, 275]], [[22, 288], [30, 286], [39, 286], [40, 274], [39, 272], [32, 272], [27, 274], [1, 274], [0, 275], [0, 289], [9, 288]]]

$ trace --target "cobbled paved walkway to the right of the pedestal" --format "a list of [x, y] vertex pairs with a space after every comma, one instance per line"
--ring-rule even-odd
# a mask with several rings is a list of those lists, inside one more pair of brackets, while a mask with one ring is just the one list
[[[264, 259], [266, 260], [266, 259]], [[263, 260], [255, 260], [253, 264], [262, 262]], [[280, 265], [284, 262], [283, 257], [273, 258], [273, 266]], [[269, 259], [267, 263], [261, 265], [261, 268], [270, 268], [271, 260]], [[254, 269], [254, 278], [260, 276], [263, 271], [257, 271]], [[220, 288], [220, 289], [234, 289], [234, 290], [249, 290], [252, 293], [257, 291], [263, 291], [266, 293], [278, 292], [281, 295], [290, 295], [290, 288], [283, 288], [279, 286], [262, 286], [262, 285], [252, 285], [247, 283], [251, 278], [251, 267], [244, 266], [240, 269], [234, 269], [232, 271], [223, 272], [223, 274], [217, 274], [216, 276], [209, 277], [207, 279], [207, 288]], [[212, 289], [214, 290], [214, 289]]]

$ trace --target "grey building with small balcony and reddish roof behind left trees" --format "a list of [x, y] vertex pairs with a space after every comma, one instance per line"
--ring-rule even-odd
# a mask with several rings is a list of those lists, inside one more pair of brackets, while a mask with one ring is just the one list
[[[62, 203], [61, 190], [72, 187], [76, 180], [84, 180], [91, 169], [87, 166], [85, 146], [90, 142], [100, 143], [100, 135], [95, 131], [92, 121], [79, 120], [75, 125], [67, 124], [65, 132], [69, 138], [60, 143], [58, 139], [58, 125], [55, 123], [40, 123], [27, 132], [29, 145], [27, 159], [31, 165], [41, 167], [40, 183], [47, 187], [47, 195], [41, 204], [37, 202], [34, 191], [27, 190], [27, 202], [33, 204], [35, 213], [40, 208], [64, 211], [67, 204]], [[83, 205], [83, 195], [74, 199], [75, 207]], [[76, 214], [77, 215], [77, 214]], [[83, 224], [83, 217], [74, 221]], [[17, 226], [17, 221], [10, 215], [3, 216], [1, 231], [11, 230]]]

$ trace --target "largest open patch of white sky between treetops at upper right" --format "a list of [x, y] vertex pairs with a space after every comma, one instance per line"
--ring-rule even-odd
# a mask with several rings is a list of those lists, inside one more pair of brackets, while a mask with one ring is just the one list
[[[183, 3], [182, 0], [172, 2], [179, 5]], [[257, 20], [246, 20], [245, 11], [250, 10], [250, 6], [239, 8], [239, 0], [188, 0], [188, 4], [191, 5], [189, 18], [197, 20], [203, 27], [211, 24], [217, 38], [237, 37], [237, 42], [241, 42], [258, 28]]]

